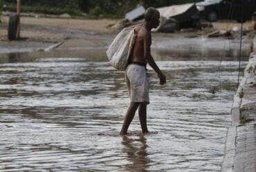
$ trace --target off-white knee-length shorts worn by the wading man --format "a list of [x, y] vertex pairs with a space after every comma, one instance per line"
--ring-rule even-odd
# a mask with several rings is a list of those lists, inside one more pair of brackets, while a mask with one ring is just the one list
[[149, 104], [149, 77], [145, 66], [128, 65], [125, 70], [125, 81], [131, 102]]

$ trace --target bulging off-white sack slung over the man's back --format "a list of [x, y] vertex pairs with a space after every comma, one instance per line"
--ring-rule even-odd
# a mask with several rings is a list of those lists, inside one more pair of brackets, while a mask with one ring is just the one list
[[136, 36], [134, 28], [125, 28], [116, 36], [106, 52], [111, 66], [126, 69]]

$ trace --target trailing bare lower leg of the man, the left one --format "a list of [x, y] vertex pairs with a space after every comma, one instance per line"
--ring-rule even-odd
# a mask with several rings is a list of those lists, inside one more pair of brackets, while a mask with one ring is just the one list
[[131, 121], [134, 119], [135, 112], [138, 109], [138, 105], [140, 105], [140, 103], [132, 103], [132, 102], [129, 105], [129, 108], [125, 116], [125, 121], [122, 125], [122, 130], [120, 131], [120, 135], [127, 134], [128, 127], [131, 124]]

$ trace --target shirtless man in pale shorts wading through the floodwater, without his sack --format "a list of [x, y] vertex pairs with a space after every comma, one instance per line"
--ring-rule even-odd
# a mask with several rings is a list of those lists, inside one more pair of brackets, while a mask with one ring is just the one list
[[131, 104], [127, 110], [125, 121], [122, 125], [120, 135], [127, 134], [128, 127], [134, 119], [136, 110], [140, 118], [140, 126], [143, 133], [147, 130], [147, 105], [149, 104], [149, 78], [147, 76], [146, 65], [154, 69], [160, 78], [160, 85], [166, 82], [165, 75], [156, 65], [154, 58], [151, 56], [150, 46], [152, 43], [151, 30], [159, 25], [160, 13], [155, 8], [148, 8], [145, 12], [145, 22], [135, 28], [137, 33], [136, 42], [133, 52], [129, 57], [129, 65], [125, 70], [125, 80], [129, 89]]

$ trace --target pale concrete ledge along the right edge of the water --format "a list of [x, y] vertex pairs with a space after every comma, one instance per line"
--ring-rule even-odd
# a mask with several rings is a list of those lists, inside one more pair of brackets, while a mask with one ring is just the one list
[[[255, 41], [256, 45], [256, 41]], [[254, 47], [255, 47], [254, 45]], [[256, 54], [252, 53], [232, 104], [221, 171], [256, 171]]]

